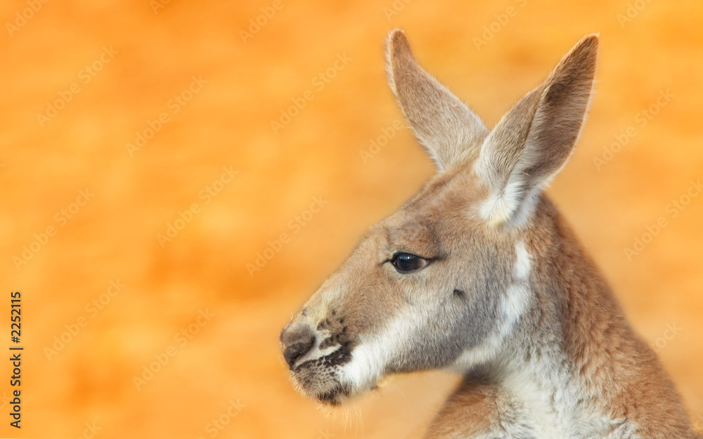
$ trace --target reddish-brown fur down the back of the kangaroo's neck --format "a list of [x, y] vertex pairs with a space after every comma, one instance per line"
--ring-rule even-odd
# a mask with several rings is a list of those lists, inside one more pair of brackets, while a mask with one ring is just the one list
[[[528, 241], [539, 284], [556, 279], [565, 350], [614, 419], [638, 421], [642, 437], [694, 437], [685, 408], [652, 349], [628, 324], [610, 286], [548, 199]], [[557, 275], [558, 273], [558, 275]]]

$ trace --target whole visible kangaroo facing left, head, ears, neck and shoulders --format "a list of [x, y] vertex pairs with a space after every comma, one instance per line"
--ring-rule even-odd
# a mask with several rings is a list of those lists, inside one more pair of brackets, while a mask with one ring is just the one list
[[696, 438], [652, 349], [543, 193], [591, 99], [588, 35], [493, 130], [386, 42], [389, 84], [437, 166], [280, 334], [292, 381], [330, 405], [387, 374], [463, 380], [426, 438]]

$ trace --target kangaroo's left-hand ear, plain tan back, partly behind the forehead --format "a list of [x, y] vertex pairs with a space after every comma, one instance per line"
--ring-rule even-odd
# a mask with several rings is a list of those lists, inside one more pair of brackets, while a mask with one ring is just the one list
[[403, 31], [389, 34], [386, 55], [391, 89], [437, 169], [476, 159], [489, 133], [481, 119], [418, 65]]

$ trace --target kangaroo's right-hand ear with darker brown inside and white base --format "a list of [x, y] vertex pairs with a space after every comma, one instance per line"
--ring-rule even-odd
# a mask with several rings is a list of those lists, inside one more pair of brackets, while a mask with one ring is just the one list
[[581, 39], [484, 140], [474, 170], [489, 188], [481, 214], [491, 225], [524, 223], [569, 159], [586, 117], [597, 54], [597, 35]]

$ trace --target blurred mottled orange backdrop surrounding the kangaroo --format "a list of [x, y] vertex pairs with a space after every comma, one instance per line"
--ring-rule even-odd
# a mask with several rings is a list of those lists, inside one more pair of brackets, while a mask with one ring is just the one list
[[703, 421], [703, 196], [671, 204], [703, 177], [699, 1], [42, 1], [0, 6], [0, 350], [15, 290], [25, 347], [20, 431], [0, 355], [0, 437], [422, 431], [455, 377], [330, 410], [278, 348], [432, 175], [386, 85], [394, 27], [489, 125], [600, 32], [590, 117], [549, 191]]

